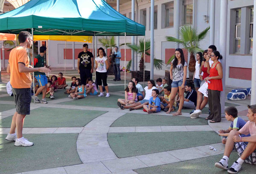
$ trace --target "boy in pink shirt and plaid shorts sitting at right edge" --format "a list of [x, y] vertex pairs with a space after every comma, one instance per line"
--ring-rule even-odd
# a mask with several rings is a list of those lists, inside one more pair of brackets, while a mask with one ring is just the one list
[[[215, 163], [215, 167], [228, 170], [227, 172], [230, 174], [238, 173], [244, 162], [256, 165], [256, 105], [248, 105], [247, 117], [249, 121], [244, 127], [239, 131], [230, 131], [225, 145], [224, 156], [218, 163]], [[241, 137], [241, 134], [250, 134], [250, 137]], [[248, 142], [248, 144], [245, 142]], [[228, 168], [228, 160], [233, 148], [239, 155], [239, 159]]]

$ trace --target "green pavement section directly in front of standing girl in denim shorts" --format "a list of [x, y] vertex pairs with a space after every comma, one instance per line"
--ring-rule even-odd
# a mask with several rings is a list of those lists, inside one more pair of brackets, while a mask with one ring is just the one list
[[204, 118], [176, 117], [150, 114], [125, 114], [118, 118], [111, 127], [123, 126], [188, 126], [208, 125]]

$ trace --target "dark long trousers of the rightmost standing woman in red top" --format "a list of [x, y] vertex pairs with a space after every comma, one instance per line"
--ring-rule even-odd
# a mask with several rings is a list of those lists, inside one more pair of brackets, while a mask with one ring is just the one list
[[207, 117], [208, 120], [215, 122], [221, 121], [221, 91], [208, 89], [208, 104], [211, 114]]

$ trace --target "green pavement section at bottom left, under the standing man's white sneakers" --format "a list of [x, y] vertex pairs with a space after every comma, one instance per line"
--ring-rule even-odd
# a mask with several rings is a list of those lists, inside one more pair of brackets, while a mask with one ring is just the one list
[[78, 134], [26, 134], [35, 143], [15, 146], [0, 134], [0, 174], [13, 174], [46, 168], [81, 164], [76, 150]]

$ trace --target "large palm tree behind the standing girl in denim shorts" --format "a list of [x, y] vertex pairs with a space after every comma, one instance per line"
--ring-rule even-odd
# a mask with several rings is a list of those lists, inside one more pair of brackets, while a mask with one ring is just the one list
[[[189, 59], [189, 79], [193, 78], [193, 74], [195, 71], [195, 54], [197, 52], [203, 52], [204, 50], [200, 46], [200, 42], [204, 40], [204, 38], [207, 36], [207, 31], [210, 29], [210, 27], [207, 27], [204, 29], [204, 31], [198, 32], [198, 30], [192, 26], [182, 26], [180, 27], [179, 36], [180, 39], [177, 39], [175, 37], [169, 37], [166, 36], [166, 40], [170, 42], [179, 43], [183, 46], [183, 48], [186, 48], [190, 54]], [[174, 59], [173, 55], [167, 62], [167, 64], [171, 63]], [[191, 77], [192, 76], [192, 77]]]

